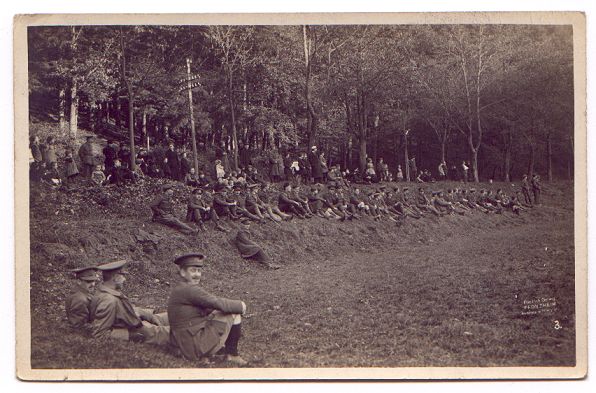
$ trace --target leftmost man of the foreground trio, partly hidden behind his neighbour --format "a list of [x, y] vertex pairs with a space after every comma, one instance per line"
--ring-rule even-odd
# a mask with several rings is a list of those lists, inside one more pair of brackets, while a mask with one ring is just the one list
[[66, 318], [70, 326], [83, 328], [89, 323], [89, 304], [97, 282], [97, 268], [85, 266], [71, 271], [75, 273], [76, 285], [66, 298]]

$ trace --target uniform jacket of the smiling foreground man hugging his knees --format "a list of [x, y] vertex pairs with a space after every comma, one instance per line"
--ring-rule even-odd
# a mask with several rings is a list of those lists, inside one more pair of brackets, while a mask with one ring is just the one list
[[227, 326], [212, 319], [214, 310], [241, 314], [242, 302], [212, 295], [189, 283], [172, 290], [168, 301], [170, 336], [185, 358], [196, 360], [219, 344]]

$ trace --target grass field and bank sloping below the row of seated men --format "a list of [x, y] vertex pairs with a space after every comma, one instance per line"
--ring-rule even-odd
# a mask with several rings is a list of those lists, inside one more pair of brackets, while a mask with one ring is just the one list
[[210, 257], [208, 290], [248, 304], [240, 350], [252, 367], [572, 366], [571, 190], [545, 185], [544, 205], [520, 217], [255, 225], [254, 238], [282, 265], [276, 271], [242, 260], [233, 233], [185, 236], [151, 223], [144, 206], [76, 206], [33, 190], [32, 366], [198, 367], [162, 348], [73, 332], [63, 306], [67, 268], [125, 257], [133, 273], [125, 293], [164, 309], [177, 281], [172, 257], [191, 250]]

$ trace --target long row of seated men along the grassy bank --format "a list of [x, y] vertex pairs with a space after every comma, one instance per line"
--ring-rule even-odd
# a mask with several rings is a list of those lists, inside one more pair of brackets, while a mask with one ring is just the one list
[[[216, 229], [228, 231], [222, 219], [248, 219], [263, 223], [281, 223], [293, 218], [354, 220], [370, 217], [388, 220], [399, 225], [407, 218], [420, 219], [426, 215], [441, 217], [472, 212], [497, 213], [511, 211], [520, 214], [527, 206], [520, 202], [518, 193], [507, 195], [502, 190], [474, 188], [448, 189], [428, 192], [418, 188], [411, 193], [408, 187], [379, 186], [368, 191], [353, 186], [330, 184], [304, 188], [285, 183], [278, 191], [271, 184], [249, 184], [245, 187], [226, 187], [216, 184], [211, 188], [195, 188], [187, 203], [184, 219], [175, 214], [172, 185], [151, 203], [153, 221], [178, 229], [187, 234], [197, 233], [212, 221]], [[196, 227], [192, 225], [196, 224]]]

